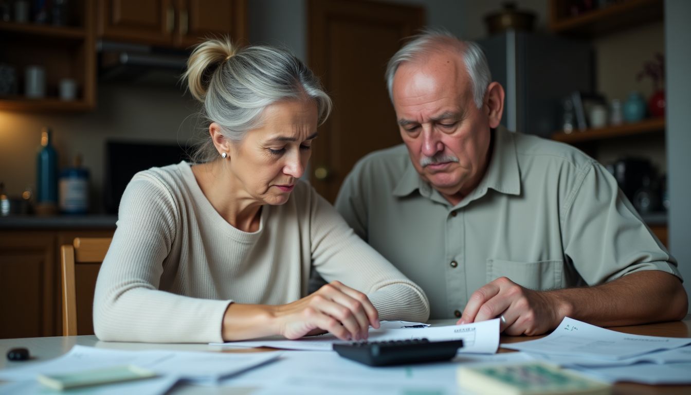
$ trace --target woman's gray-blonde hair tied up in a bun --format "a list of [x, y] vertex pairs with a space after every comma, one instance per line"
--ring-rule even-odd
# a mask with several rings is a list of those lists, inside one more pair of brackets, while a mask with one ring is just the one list
[[[208, 39], [193, 50], [182, 75], [187, 89], [202, 102], [200, 118], [208, 127], [220, 125], [223, 136], [238, 142], [261, 126], [262, 113], [283, 100], [312, 99], [319, 125], [328, 118], [332, 102], [319, 79], [290, 51], [274, 46], [236, 48], [230, 39]], [[193, 155], [196, 162], [218, 158], [211, 138]]]

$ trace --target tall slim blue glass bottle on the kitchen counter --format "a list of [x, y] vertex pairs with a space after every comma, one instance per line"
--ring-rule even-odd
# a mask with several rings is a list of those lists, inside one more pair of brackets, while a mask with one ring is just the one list
[[36, 156], [36, 203], [57, 208], [57, 151], [50, 141], [48, 127], [41, 130], [41, 147]]

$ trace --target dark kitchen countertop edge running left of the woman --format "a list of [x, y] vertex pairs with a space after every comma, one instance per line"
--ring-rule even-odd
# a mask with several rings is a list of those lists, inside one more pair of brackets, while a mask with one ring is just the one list
[[10, 215], [0, 217], [0, 230], [12, 229], [115, 229], [117, 215], [55, 215], [37, 217], [35, 215]]

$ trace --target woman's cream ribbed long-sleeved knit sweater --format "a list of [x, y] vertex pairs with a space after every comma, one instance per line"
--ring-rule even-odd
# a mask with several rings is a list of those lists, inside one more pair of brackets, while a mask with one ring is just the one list
[[425, 321], [429, 304], [310, 185], [264, 205], [259, 230], [231, 226], [188, 163], [136, 174], [93, 304], [100, 340], [220, 342], [231, 302], [285, 304], [307, 295], [310, 270], [366, 293], [381, 320]]

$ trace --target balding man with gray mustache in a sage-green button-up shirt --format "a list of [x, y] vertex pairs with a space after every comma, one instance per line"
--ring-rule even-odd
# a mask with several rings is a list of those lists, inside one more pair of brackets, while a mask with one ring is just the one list
[[[549, 66], [547, 66], [549, 67]], [[611, 326], [687, 312], [676, 261], [583, 152], [500, 126], [482, 50], [427, 31], [386, 71], [404, 145], [361, 159], [337, 209], [422, 286], [430, 318], [500, 317], [536, 335], [569, 316]]]

